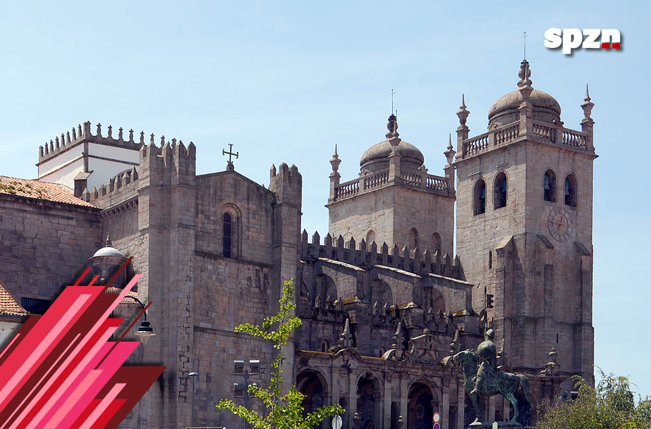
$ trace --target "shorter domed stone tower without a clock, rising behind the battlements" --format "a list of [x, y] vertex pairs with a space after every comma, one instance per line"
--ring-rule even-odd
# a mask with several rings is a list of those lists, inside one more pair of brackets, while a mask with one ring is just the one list
[[429, 249], [440, 261], [452, 254], [454, 234], [454, 151], [446, 151], [445, 176], [427, 174], [420, 150], [398, 137], [389, 116], [386, 139], [365, 151], [359, 178], [340, 183], [339, 155], [330, 160], [329, 232], [346, 242], [365, 240], [377, 247]]

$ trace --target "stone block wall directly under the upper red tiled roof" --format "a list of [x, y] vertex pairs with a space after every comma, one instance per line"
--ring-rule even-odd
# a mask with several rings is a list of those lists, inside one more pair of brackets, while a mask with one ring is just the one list
[[0, 279], [18, 299], [53, 299], [102, 246], [97, 209], [0, 194]]

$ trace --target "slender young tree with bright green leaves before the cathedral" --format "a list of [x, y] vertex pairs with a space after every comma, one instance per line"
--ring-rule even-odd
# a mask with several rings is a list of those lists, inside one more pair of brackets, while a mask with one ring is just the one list
[[256, 429], [310, 429], [325, 418], [344, 412], [337, 404], [322, 406], [320, 409], [305, 414], [302, 405], [305, 395], [298, 392], [295, 385], [292, 385], [285, 394], [282, 392], [283, 361], [285, 360], [282, 349], [287, 344], [291, 333], [303, 323], [300, 318], [293, 316], [293, 311], [296, 309], [293, 294], [293, 280], [288, 280], [284, 284], [283, 294], [279, 300], [280, 309], [275, 316], [264, 318], [262, 326], [243, 323], [235, 328], [235, 332], [247, 333], [253, 337], [274, 342], [274, 349], [277, 350], [276, 358], [271, 363], [269, 387], [262, 388], [252, 385], [248, 388], [253, 397], [262, 400], [262, 404], [267, 409], [265, 414], [246, 409], [230, 399], [221, 399], [217, 404], [217, 408], [227, 409], [231, 413], [245, 418]]

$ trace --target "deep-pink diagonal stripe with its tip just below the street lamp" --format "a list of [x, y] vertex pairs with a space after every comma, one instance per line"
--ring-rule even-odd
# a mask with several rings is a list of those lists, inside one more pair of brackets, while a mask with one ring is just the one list
[[[107, 343], [107, 345], [109, 344], [110, 343]], [[138, 347], [138, 344], [140, 343], [135, 341], [121, 342], [120, 344], [117, 344], [115, 349], [113, 349], [113, 351], [109, 354], [109, 356], [107, 356], [104, 362], [102, 362], [102, 365], [99, 366], [99, 370], [101, 370], [102, 373], [99, 375], [97, 380], [95, 380], [95, 382], [93, 382], [92, 385], [87, 388], [86, 394], [83, 395], [83, 397], [78, 398], [77, 402], [74, 404], [74, 407], [68, 411], [68, 414], [65, 418], [63, 418], [63, 420], [61, 420], [61, 423], [59, 423], [59, 426], [57, 426], [56, 429], [67, 429], [70, 428], [73, 423], [75, 423], [77, 418], [83, 413], [88, 404], [92, 402], [92, 399], [97, 397], [97, 394], [99, 394], [102, 388], [104, 388], [104, 386], [109, 383], [122, 363], [124, 363], [124, 361], [126, 361], [126, 359], [135, 350], [135, 348]], [[94, 363], [89, 363], [89, 366], [94, 366]], [[50, 421], [47, 427], [54, 428], [54, 425], [52, 423], [53, 421]]]

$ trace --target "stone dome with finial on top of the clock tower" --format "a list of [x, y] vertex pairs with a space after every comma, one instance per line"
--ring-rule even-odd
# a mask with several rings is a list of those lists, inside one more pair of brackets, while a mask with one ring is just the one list
[[[529, 62], [524, 60], [520, 67], [518, 87], [530, 86], [530, 75]], [[529, 99], [533, 105], [533, 119], [546, 123], [559, 123], [561, 121], [561, 105], [547, 92], [533, 89]], [[519, 89], [499, 97], [488, 111], [488, 128], [497, 128], [518, 120], [518, 107], [522, 101], [523, 96]]]

